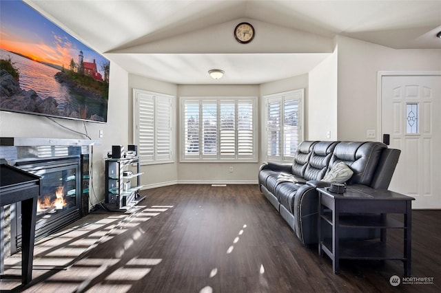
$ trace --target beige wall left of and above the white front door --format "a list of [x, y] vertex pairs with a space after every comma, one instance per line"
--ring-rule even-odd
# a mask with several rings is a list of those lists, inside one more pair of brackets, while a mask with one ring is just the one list
[[378, 129], [377, 72], [441, 69], [441, 50], [395, 50], [345, 36], [337, 42], [338, 140], [367, 140], [367, 130]]

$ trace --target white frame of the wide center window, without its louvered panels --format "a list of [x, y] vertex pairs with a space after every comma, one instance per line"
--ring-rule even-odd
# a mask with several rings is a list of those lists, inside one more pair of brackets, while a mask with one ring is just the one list
[[[252, 104], [252, 153], [240, 154], [238, 144], [238, 104], [243, 101], [251, 101]], [[198, 105], [198, 151], [194, 154], [185, 152], [185, 104], [193, 102]], [[220, 104], [229, 102], [234, 103], [234, 153], [220, 153]], [[203, 104], [216, 103], [216, 153], [204, 153], [203, 151], [203, 137], [201, 129], [203, 129]], [[181, 97], [180, 98], [180, 162], [258, 162], [258, 98], [256, 96], [227, 96], [227, 97]], [[242, 145], [242, 144], [241, 144]], [[246, 148], [246, 147], [245, 147]]]

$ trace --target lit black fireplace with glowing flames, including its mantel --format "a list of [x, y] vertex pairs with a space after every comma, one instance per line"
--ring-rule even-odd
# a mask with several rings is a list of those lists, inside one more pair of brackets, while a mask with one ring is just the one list
[[[0, 139], [0, 158], [41, 177], [35, 239], [50, 235], [89, 213], [91, 142], [16, 138], [10, 143]], [[10, 254], [21, 250], [20, 215], [20, 204], [11, 204], [8, 221], [5, 219], [6, 230], [10, 230], [10, 239], [6, 241]]]

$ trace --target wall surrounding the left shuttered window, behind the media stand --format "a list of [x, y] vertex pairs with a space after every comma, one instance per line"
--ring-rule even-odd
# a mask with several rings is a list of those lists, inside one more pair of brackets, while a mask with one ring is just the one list
[[[134, 143], [133, 138], [133, 89], [144, 89], [146, 91], [154, 91], [156, 93], [167, 94], [175, 96], [177, 94], [177, 85], [172, 83], [165, 83], [158, 80], [153, 80], [150, 78], [145, 78], [143, 76], [137, 76], [134, 74], [129, 74], [129, 113], [127, 113], [129, 120], [129, 141]], [[175, 100], [175, 109], [178, 108], [177, 98]], [[177, 111], [176, 111], [177, 113]], [[177, 131], [176, 126], [176, 132]], [[177, 166], [176, 162], [178, 160], [178, 155], [175, 152], [175, 162], [169, 164], [154, 164], [154, 165], [144, 165], [141, 166], [141, 184], [145, 188], [152, 188], [156, 186], [165, 186], [170, 184], [176, 184], [178, 180]]]

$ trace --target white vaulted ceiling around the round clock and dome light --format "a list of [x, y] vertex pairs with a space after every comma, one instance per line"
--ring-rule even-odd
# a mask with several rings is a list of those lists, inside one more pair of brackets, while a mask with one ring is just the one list
[[[175, 84], [261, 84], [305, 74], [334, 37], [440, 49], [441, 1], [27, 0], [131, 74]], [[234, 39], [248, 21], [252, 43]], [[112, 65], [111, 65], [112, 66]], [[213, 80], [209, 69], [223, 69]]]

